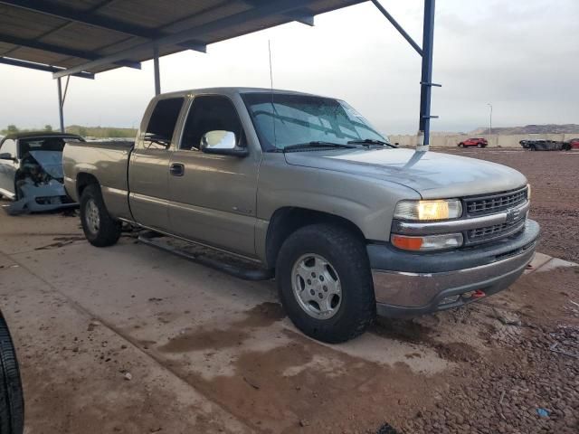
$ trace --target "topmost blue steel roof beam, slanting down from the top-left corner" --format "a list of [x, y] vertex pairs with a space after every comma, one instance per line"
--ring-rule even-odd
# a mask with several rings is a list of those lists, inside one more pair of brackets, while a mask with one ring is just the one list
[[[79, 11], [78, 9], [73, 9], [63, 5], [56, 5], [54, 3], [48, 4], [41, 0], [0, 0], [0, 5], [19, 7], [27, 11], [50, 15], [75, 23], [88, 24], [100, 29], [125, 33], [144, 39], [157, 39], [167, 35], [167, 33], [160, 33], [140, 25], [128, 24], [115, 20], [114, 18], [93, 14], [91, 13], [92, 11]], [[196, 48], [188, 47], [186, 45], [184, 48], [196, 51]]]

